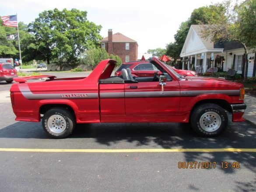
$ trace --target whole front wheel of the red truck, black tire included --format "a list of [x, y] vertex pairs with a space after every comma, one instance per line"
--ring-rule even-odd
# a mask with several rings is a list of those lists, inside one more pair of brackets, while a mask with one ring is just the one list
[[207, 103], [193, 110], [190, 115], [190, 124], [200, 136], [218, 136], [228, 126], [228, 115], [219, 105]]

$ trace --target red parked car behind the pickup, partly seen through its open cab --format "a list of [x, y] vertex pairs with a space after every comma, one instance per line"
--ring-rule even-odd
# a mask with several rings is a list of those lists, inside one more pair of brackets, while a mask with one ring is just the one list
[[[197, 76], [196, 72], [189, 70], [178, 70], [172, 66], [168, 66], [175, 70], [175, 72], [179, 73], [182, 76]], [[130, 68], [132, 75], [134, 77], [154, 77], [154, 73], [160, 71], [157, 66], [150, 63], [150, 61], [130, 61], [127, 63], [123, 63], [117, 70], [115, 75], [119, 76], [122, 73], [122, 69]]]

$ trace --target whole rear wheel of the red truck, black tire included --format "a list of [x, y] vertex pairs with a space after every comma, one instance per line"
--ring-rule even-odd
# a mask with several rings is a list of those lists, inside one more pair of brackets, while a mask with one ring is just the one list
[[53, 138], [66, 138], [75, 127], [74, 115], [66, 108], [51, 108], [42, 118], [42, 126], [46, 133]]

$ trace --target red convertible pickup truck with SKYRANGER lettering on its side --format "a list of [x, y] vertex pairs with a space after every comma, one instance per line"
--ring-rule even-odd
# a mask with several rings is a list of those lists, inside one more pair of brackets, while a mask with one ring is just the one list
[[[88, 77], [14, 78], [11, 103], [17, 121], [40, 122], [49, 136], [69, 136], [76, 123], [184, 122], [201, 136], [217, 136], [242, 122], [242, 84], [209, 77], [182, 77], [153, 57], [154, 77], [114, 76], [116, 61], [103, 60]], [[29, 79], [45, 78], [41, 82]], [[171, 129], [171, 128], [170, 128]]]

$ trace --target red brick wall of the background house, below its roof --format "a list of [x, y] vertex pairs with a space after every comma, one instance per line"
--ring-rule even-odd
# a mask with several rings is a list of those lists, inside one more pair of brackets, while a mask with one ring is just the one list
[[138, 45], [136, 42], [130, 42], [130, 49], [125, 49], [125, 42], [113, 42], [113, 51], [125, 63], [125, 56], [130, 56], [130, 61], [136, 61], [138, 56]]

